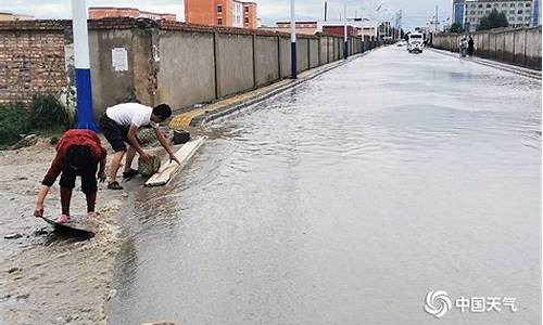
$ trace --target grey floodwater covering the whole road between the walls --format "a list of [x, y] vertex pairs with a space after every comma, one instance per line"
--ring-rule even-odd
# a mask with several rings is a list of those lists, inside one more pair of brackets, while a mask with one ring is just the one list
[[540, 81], [389, 47], [212, 128], [127, 216], [111, 324], [540, 323]]

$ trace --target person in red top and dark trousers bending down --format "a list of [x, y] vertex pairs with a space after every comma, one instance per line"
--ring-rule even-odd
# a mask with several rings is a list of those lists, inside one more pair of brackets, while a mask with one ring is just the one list
[[[97, 172], [98, 180], [105, 181], [106, 152], [100, 143], [98, 135], [90, 130], [68, 130], [56, 144], [56, 155], [49, 168], [38, 193], [35, 217], [43, 217], [43, 200], [49, 188], [56, 178], [61, 187], [62, 214], [56, 219], [59, 223], [70, 221], [70, 202], [75, 179], [81, 177], [81, 191], [87, 197], [87, 219], [96, 218], [94, 204], [97, 199]], [[98, 165], [100, 164], [100, 169]]]

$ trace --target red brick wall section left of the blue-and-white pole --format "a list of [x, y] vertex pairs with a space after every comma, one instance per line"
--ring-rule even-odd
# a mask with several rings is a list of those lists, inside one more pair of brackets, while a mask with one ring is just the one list
[[0, 103], [66, 86], [63, 30], [0, 30]]

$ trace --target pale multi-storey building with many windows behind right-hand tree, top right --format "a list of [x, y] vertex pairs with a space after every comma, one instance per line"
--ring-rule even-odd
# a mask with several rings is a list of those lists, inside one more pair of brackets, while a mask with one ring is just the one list
[[464, 28], [477, 30], [481, 18], [492, 10], [505, 13], [512, 27], [532, 24], [534, 0], [467, 0], [464, 8]]

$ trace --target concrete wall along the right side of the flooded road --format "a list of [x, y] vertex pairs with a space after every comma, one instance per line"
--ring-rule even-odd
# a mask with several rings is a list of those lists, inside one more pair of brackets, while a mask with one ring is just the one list
[[[458, 51], [462, 35], [439, 34], [433, 47]], [[541, 26], [530, 28], [496, 28], [472, 34], [475, 55], [541, 70]]]

